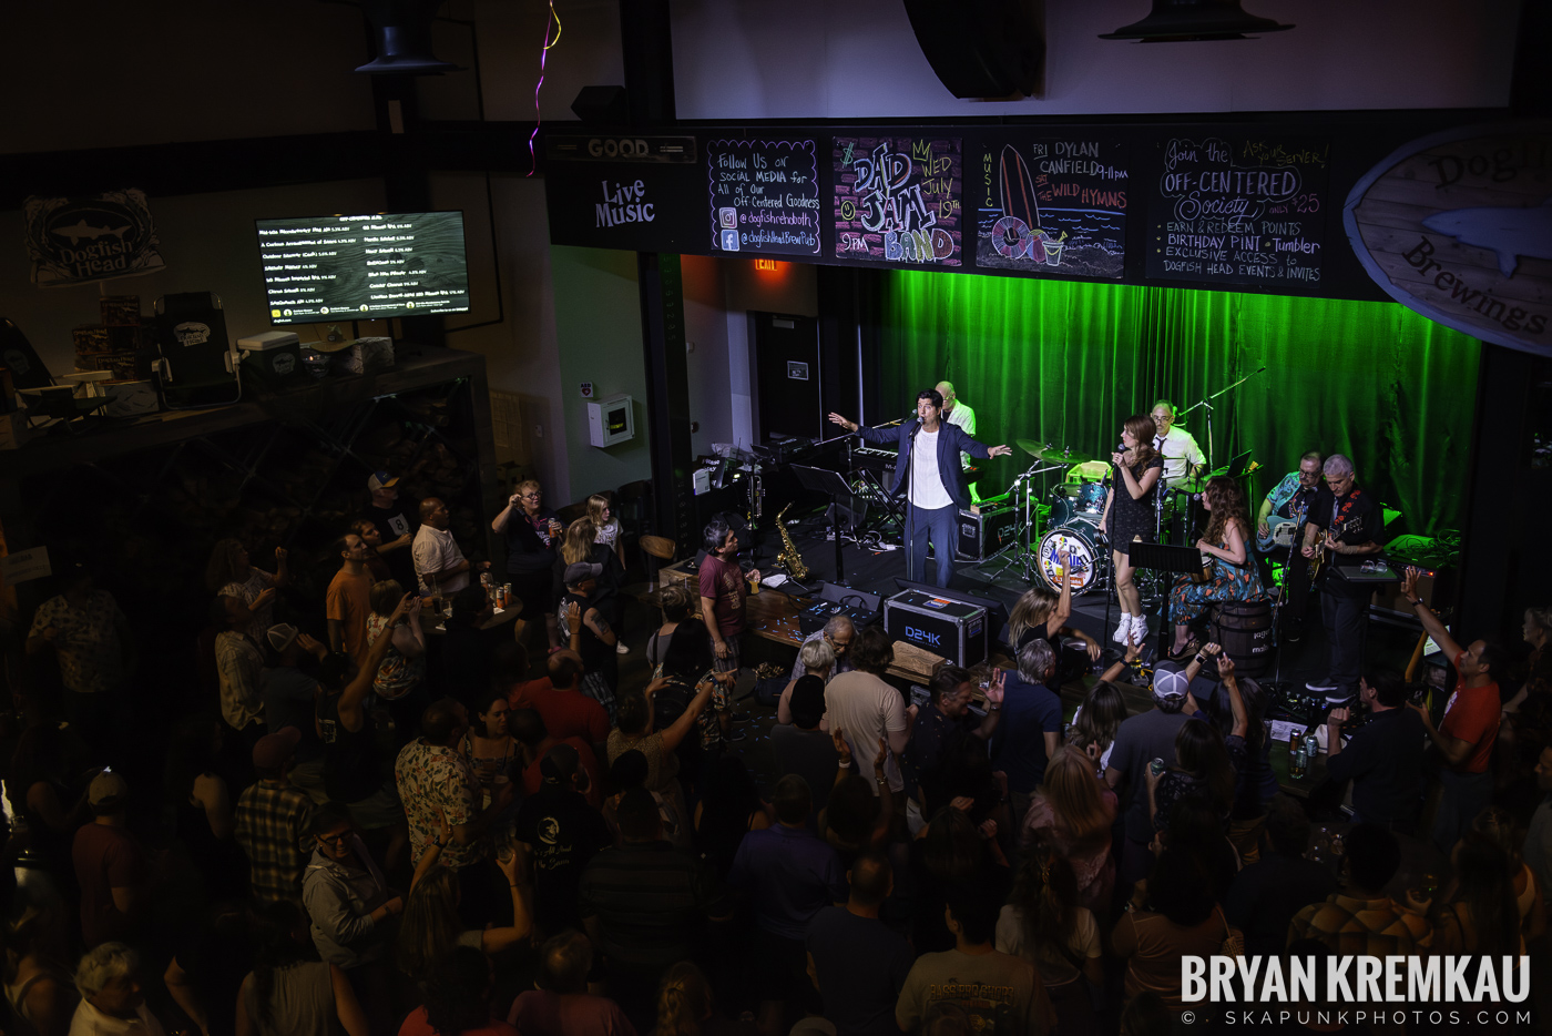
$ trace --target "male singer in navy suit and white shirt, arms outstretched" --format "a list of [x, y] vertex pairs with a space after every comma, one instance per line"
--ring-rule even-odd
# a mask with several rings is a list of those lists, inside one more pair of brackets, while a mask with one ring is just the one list
[[1007, 457], [1007, 446], [984, 446], [964, 433], [962, 429], [942, 421], [944, 398], [936, 388], [916, 395], [916, 421], [903, 421], [892, 429], [868, 429], [847, 421], [838, 413], [830, 422], [854, 432], [878, 446], [896, 444], [899, 460], [894, 464], [891, 495], [900, 495], [909, 474], [909, 495], [905, 513], [905, 528], [909, 537], [906, 578], [922, 579], [927, 572], [927, 544], [931, 542], [937, 558], [941, 587], [954, 576], [954, 548], [959, 545], [959, 508], [970, 506], [965, 492], [964, 471], [959, 468], [959, 452], [972, 457]]

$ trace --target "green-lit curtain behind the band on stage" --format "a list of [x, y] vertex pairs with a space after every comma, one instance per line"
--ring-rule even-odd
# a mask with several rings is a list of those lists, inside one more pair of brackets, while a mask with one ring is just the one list
[[[1360, 485], [1405, 519], [1391, 534], [1459, 528], [1481, 343], [1397, 303], [891, 270], [878, 278], [880, 410], [909, 413], [951, 381], [976, 438], [1108, 458], [1127, 415], [1158, 398], [1212, 402], [1212, 463], [1260, 464], [1251, 511], [1310, 449], [1347, 454]], [[1207, 449], [1207, 415], [1183, 427]], [[982, 497], [1032, 458], [992, 461]]]

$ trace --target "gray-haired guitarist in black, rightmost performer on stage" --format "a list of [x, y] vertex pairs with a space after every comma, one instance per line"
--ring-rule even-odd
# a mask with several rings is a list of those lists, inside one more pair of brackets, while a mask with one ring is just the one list
[[[1380, 503], [1356, 485], [1353, 463], [1332, 454], [1321, 468], [1325, 485], [1315, 494], [1304, 525], [1302, 555], [1319, 558], [1324, 568], [1333, 556], [1377, 555], [1375, 542], [1381, 528]], [[1318, 581], [1321, 620], [1332, 641], [1332, 666], [1327, 676], [1307, 683], [1325, 701], [1339, 705], [1358, 693], [1358, 671], [1363, 665], [1363, 640], [1372, 587], [1349, 586], [1339, 578]]]

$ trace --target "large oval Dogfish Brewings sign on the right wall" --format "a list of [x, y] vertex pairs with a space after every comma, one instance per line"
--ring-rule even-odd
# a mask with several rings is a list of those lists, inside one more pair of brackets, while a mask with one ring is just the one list
[[1484, 342], [1552, 356], [1552, 123], [1412, 141], [1358, 180], [1342, 222], [1391, 298]]

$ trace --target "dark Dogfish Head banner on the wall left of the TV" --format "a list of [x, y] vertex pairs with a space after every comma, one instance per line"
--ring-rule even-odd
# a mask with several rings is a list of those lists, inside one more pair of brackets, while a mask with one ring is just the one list
[[62, 287], [113, 276], [155, 273], [166, 264], [143, 191], [95, 197], [29, 197], [26, 252], [33, 283]]

